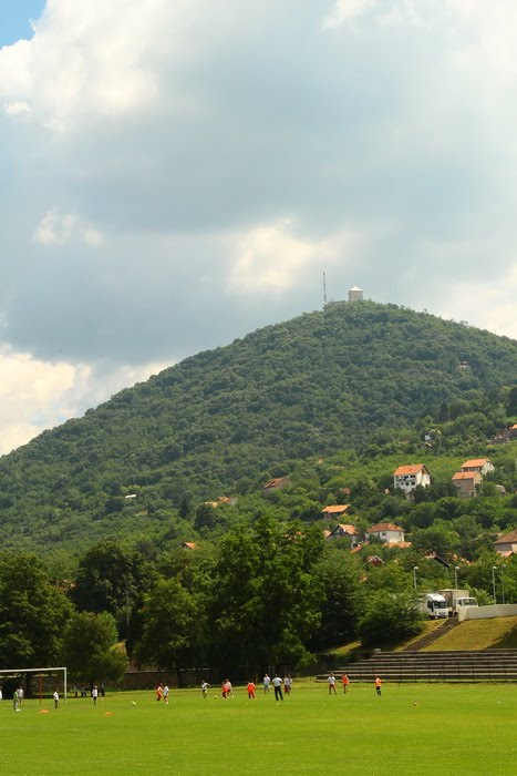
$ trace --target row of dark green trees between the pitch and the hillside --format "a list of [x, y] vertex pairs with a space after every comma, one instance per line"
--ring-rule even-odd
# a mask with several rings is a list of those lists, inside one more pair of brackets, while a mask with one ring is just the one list
[[52, 579], [32, 555], [3, 552], [0, 663], [64, 664], [84, 683], [116, 681], [128, 658], [175, 672], [179, 683], [186, 668], [294, 671], [355, 639], [380, 646], [416, 634], [415, 596], [453, 586], [455, 575], [480, 603], [492, 601], [494, 579], [499, 600], [504, 585], [506, 601], [517, 601], [515, 559], [487, 549], [455, 565], [375, 542], [351, 553], [325, 542], [319, 524], [263, 515], [195, 549], [145, 554], [103, 541], [70, 580]]

